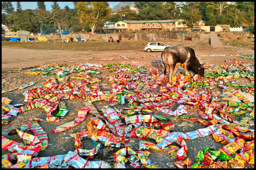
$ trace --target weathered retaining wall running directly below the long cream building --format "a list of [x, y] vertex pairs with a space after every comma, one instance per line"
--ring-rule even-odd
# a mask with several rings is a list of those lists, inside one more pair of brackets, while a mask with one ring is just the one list
[[185, 40], [186, 37], [200, 39], [201, 32], [177, 33], [177, 32], [154, 32], [154, 33], [118, 33], [102, 34], [101, 38], [108, 40], [113, 37], [114, 40]]

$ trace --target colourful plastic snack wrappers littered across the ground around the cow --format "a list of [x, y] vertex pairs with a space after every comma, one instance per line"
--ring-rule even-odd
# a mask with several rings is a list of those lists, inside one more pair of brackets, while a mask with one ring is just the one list
[[[248, 128], [248, 121], [254, 120], [254, 102], [232, 88], [242, 87], [247, 93], [254, 94], [254, 87], [234, 86], [219, 81], [241, 77], [254, 81], [254, 65], [234, 62], [231, 65], [206, 64], [205, 67], [205, 77], [178, 73], [172, 76], [172, 85], [167, 83], [163, 69], [147, 69], [136, 64], [48, 64], [17, 71], [35, 75], [54, 74], [56, 78], [47, 79], [42, 86], [28, 88], [23, 93], [24, 102], [28, 102], [26, 105], [11, 105], [11, 99], [3, 97], [2, 125], [11, 123], [11, 116], [38, 108], [45, 110], [46, 121], [61, 122], [69, 112], [65, 100], [82, 99], [84, 107], [78, 110], [75, 120], [52, 129], [52, 133], [73, 128], [84, 121], [87, 114], [94, 117], [90, 118], [86, 130], [76, 133], [74, 151], [51, 157], [37, 157], [40, 151], [47, 149], [48, 137], [40, 126], [44, 120], [31, 118], [28, 124], [17, 129], [24, 144], [2, 136], [2, 149], [10, 151], [2, 155], [2, 168], [111, 168], [108, 162], [93, 161], [99, 150], [106, 146], [120, 148], [114, 154], [115, 164], [112, 168], [125, 168], [127, 163], [133, 168], [161, 168], [149, 158], [150, 150], [169, 153], [177, 159], [174, 165], [178, 168], [246, 168], [246, 164], [254, 165], [254, 129]], [[100, 76], [104, 69], [108, 69], [111, 75]], [[121, 72], [129, 74], [116, 74]], [[87, 87], [88, 84], [101, 83], [102, 79], [109, 81], [112, 90], [104, 91], [99, 85]], [[21, 88], [32, 85], [30, 83]], [[210, 91], [217, 88], [231, 92], [242, 102], [220, 101], [219, 94]], [[156, 92], [148, 92], [150, 89]], [[2, 94], [10, 91], [13, 90]], [[98, 111], [93, 105], [96, 101], [104, 101], [106, 105]], [[128, 103], [128, 107], [115, 107], [125, 103]], [[172, 111], [172, 104], [179, 104], [179, 107]], [[199, 109], [200, 119], [186, 116], [195, 109]], [[54, 117], [52, 113], [56, 110], [58, 114]], [[155, 116], [151, 110], [167, 117]], [[230, 115], [243, 117], [240, 121], [234, 121]], [[173, 131], [174, 124], [159, 122], [177, 119], [198, 122], [205, 128], [176, 132]], [[33, 135], [26, 133], [29, 130]], [[223, 147], [218, 150], [204, 148], [198, 152], [197, 162], [192, 162], [188, 158], [185, 140], [208, 135]], [[123, 147], [131, 137], [140, 139], [138, 150]], [[84, 138], [90, 138], [94, 148], [83, 149], [81, 140]]]

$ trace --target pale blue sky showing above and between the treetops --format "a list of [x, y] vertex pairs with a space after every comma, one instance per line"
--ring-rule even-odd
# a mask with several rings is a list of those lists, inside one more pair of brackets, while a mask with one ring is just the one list
[[[117, 5], [119, 2], [108, 2], [109, 3], [109, 6], [112, 8], [113, 6]], [[21, 4], [21, 8], [22, 10], [25, 10], [25, 9], [36, 9], [37, 7], [37, 2], [20, 2]], [[46, 10], [47, 11], [50, 11], [52, 10], [52, 2], [44, 2], [45, 6], [46, 6]], [[58, 2], [60, 8], [64, 8], [66, 5], [69, 7], [69, 8], [74, 8], [74, 4], [73, 2]], [[12, 2], [12, 6], [15, 8], [15, 11], [16, 11], [16, 6], [17, 6], [17, 2]]]

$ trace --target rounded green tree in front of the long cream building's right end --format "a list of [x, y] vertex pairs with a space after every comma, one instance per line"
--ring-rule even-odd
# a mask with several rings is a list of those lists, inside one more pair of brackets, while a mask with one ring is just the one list
[[181, 23], [187, 25], [189, 27], [189, 31], [194, 26], [197, 26], [198, 22], [202, 20], [202, 16], [199, 14], [198, 8], [193, 9], [189, 7], [184, 7], [183, 13], [181, 13], [181, 17], [185, 20]]

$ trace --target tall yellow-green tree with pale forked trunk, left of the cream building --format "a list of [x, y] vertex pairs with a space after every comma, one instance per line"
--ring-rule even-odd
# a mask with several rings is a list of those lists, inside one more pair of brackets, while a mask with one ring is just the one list
[[89, 25], [92, 34], [99, 24], [103, 24], [111, 13], [108, 2], [77, 2], [75, 8], [80, 15], [80, 20]]

